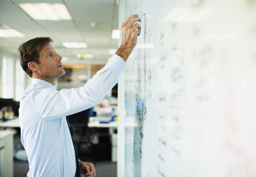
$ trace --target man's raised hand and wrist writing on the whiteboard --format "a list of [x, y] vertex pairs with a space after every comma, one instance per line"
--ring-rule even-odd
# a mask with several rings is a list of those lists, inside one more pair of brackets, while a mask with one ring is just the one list
[[124, 61], [127, 61], [129, 55], [137, 44], [137, 36], [141, 32], [141, 27], [139, 24], [135, 23], [137, 21], [142, 21], [139, 19], [138, 14], [130, 16], [124, 24], [121, 26], [122, 31], [122, 44], [117, 49], [116, 54], [119, 55]]

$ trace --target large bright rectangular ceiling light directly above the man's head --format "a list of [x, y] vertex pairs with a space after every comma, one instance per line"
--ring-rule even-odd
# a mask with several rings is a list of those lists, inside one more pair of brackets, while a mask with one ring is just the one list
[[32, 19], [70, 20], [72, 17], [64, 4], [24, 3], [19, 4]]

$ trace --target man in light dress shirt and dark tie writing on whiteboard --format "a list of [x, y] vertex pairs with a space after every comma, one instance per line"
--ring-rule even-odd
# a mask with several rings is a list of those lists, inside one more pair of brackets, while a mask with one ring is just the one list
[[19, 46], [21, 66], [32, 79], [19, 108], [21, 142], [29, 161], [27, 176], [96, 176], [92, 163], [78, 162], [66, 116], [97, 105], [117, 84], [137, 44], [141, 31], [137, 21], [141, 21], [137, 14], [124, 21], [119, 49], [103, 69], [77, 89], [54, 88], [65, 71], [50, 38], [31, 39]]

